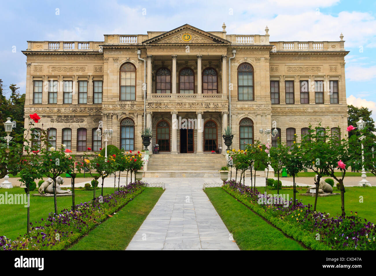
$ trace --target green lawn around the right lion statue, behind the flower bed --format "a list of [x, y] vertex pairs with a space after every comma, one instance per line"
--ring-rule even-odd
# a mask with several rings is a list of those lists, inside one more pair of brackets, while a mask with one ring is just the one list
[[[265, 192], [265, 187], [257, 187], [260, 193]], [[299, 189], [299, 188], [298, 188]], [[300, 196], [305, 193], [307, 188], [300, 188], [297, 194], [297, 199], [302, 199], [304, 204], [315, 203], [315, 198], [312, 196]], [[376, 223], [376, 187], [345, 187], [345, 212], [350, 216], [350, 211], [358, 212], [358, 216]], [[268, 193], [276, 194], [277, 190], [267, 190]], [[334, 193], [340, 193], [337, 188], [333, 189]], [[280, 194], [288, 194], [289, 198], [293, 197], [293, 189], [283, 188], [279, 191]], [[363, 203], [359, 202], [359, 197], [363, 197]], [[341, 195], [333, 195], [317, 198], [317, 211], [329, 213], [331, 216], [341, 214]]]

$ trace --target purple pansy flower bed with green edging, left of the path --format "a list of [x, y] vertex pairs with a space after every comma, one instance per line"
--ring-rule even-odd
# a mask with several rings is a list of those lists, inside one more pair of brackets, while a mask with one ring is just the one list
[[38, 226], [30, 228], [29, 235], [20, 236], [13, 241], [0, 236], [0, 250], [64, 249], [134, 199], [146, 186], [146, 182], [137, 181], [127, 187], [122, 186], [120, 191], [104, 195], [103, 199], [98, 197], [77, 204], [76, 212], [64, 209], [55, 216], [50, 213]]

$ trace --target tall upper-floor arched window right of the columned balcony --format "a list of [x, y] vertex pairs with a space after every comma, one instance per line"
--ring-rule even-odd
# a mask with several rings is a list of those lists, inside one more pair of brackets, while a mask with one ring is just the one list
[[238, 67], [238, 100], [253, 101], [253, 67], [242, 63]]

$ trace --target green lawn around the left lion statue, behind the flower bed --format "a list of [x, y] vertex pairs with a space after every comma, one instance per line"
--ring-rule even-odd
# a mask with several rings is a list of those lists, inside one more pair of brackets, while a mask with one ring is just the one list
[[[0, 189], [0, 194], [8, 192], [12, 194], [24, 195], [23, 188], [14, 187], [12, 189]], [[103, 193], [113, 193], [114, 188], [103, 188]], [[32, 193], [38, 193], [34, 191]], [[79, 204], [81, 202], [89, 201], [93, 198], [93, 191], [76, 190], [75, 202]], [[96, 190], [96, 196], [100, 195], [100, 189]], [[58, 212], [65, 208], [71, 208], [72, 197], [63, 196], [57, 198]], [[42, 218], [47, 218], [48, 214], [54, 212], [53, 197], [39, 197], [30, 195], [30, 222], [35, 223]], [[16, 204], [0, 204], [0, 236], [6, 236], [7, 238], [17, 238], [18, 235], [26, 234], [26, 220], [27, 220], [27, 208], [24, 205]], [[34, 225], [35, 226], [35, 225]]]

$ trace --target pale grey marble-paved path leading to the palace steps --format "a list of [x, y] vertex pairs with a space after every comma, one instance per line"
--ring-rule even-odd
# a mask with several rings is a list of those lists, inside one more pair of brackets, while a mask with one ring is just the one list
[[[157, 179], [165, 182], [166, 190], [127, 250], [239, 250], [202, 190], [202, 184], [212, 179]], [[156, 178], [143, 180], [156, 182]]]

